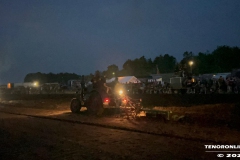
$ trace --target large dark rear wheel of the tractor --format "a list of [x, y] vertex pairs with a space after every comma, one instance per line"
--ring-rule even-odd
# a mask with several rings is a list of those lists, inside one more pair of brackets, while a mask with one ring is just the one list
[[100, 116], [103, 113], [103, 102], [98, 92], [92, 92], [89, 97], [88, 112], [92, 115]]

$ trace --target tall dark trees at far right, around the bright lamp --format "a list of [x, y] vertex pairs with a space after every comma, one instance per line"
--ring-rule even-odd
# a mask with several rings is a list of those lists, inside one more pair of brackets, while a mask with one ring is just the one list
[[180, 62], [181, 67], [189, 70], [188, 62], [193, 61], [193, 73], [195, 75], [204, 73], [231, 72], [240, 68], [240, 49], [238, 47], [219, 46], [212, 53], [185, 52]]

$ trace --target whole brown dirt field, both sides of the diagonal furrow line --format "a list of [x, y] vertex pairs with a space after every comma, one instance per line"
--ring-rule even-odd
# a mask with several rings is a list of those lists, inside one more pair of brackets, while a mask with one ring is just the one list
[[160, 108], [195, 115], [199, 123], [196, 119], [165, 122], [117, 114], [72, 114], [69, 102], [69, 98], [2, 101], [1, 155], [10, 159], [214, 159], [216, 154], [205, 153], [204, 144], [239, 144], [239, 131], [222, 124], [209, 125], [211, 121], [204, 115], [215, 111], [226, 116], [233, 107], [229, 104]]

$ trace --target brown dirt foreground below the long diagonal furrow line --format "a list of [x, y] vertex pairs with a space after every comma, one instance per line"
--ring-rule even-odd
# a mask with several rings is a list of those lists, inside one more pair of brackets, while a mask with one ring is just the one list
[[0, 113], [0, 117], [0, 158], [3, 160], [216, 157], [214, 153], [205, 153], [205, 143], [198, 141], [22, 115]]

